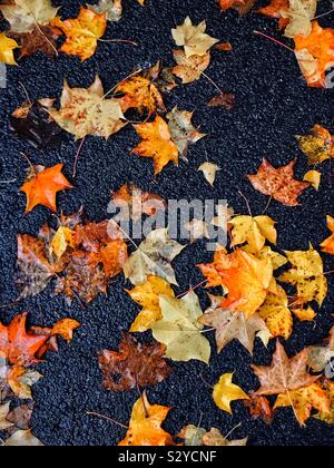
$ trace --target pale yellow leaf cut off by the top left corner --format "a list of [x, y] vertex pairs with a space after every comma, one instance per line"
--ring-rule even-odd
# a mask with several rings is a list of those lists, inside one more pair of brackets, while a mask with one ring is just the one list
[[13, 4], [0, 6], [12, 32], [32, 32], [37, 26], [47, 26], [59, 8], [51, 0], [13, 0]]

